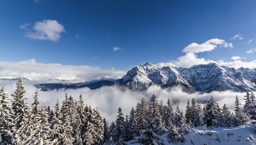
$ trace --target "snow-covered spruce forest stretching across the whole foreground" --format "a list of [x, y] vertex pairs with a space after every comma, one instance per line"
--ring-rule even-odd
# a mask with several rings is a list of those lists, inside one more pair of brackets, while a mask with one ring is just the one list
[[[144, 98], [131, 108], [129, 115], [123, 115], [121, 107], [117, 110], [114, 122], [109, 123], [101, 117], [99, 110], [85, 105], [80, 95], [74, 100], [66, 93], [65, 101], [56, 100], [54, 109], [40, 105], [38, 92], [34, 102], [28, 106], [24, 97], [26, 90], [22, 78], [16, 83], [11, 94], [0, 89], [0, 144], [126, 144], [132, 140], [141, 144], [164, 144], [162, 135], [169, 142], [184, 142], [184, 135], [197, 126], [231, 127], [245, 122], [255, 122], [255, 95], [247, 92], [245, 105], [238, 97], [234, 101], [234, 111], [224, 104], [220, 107], [210, 97], [205, 105], [192, 98], [185, 112], [172, 108], [171, 100], [166, 104], [153, 95], [149, 101]], [[256, 130], [256, 127], [255, 127]], [[255, 131], [256, 132], [256, 131]]]

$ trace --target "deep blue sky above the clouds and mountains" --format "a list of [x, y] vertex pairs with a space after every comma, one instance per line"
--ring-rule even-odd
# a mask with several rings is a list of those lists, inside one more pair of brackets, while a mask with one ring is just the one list
[[[256, 1], [3, 0], [0, 18], [0, 61], [127, 69], [176, 60], [187, 45], [215, 38], [233, 47], [194, 54], [228, 62], [256, 56], [246, 53], [256, 48]], [[42, 34], [47, 22], [59, 28], [52, 38]]]

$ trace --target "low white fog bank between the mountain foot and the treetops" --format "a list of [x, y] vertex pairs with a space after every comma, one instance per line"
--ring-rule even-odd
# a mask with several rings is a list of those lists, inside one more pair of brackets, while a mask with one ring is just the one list
[[[0, 81], [0, 83], [5, 86], [6, 90], [9, 93], [13, 93], [15, 89], [16, 81]], [[25, 89], [27, 93], [25, 97], [28, 98], [28, 104], [32, 103], [33, 93], [37, 90], [33, 84], [34, 81], [24, 81]], [[214, 96], [216, 101], [220, 106], [226, 105], [233, 110], [234, 109], [234, 98], [236, 95], [240, 98], [243, 103], [243, 96], [245, 93], [238, 93], [232, 91], [225, 92], [211, 92], [211, 93], [192, 93], [188, 94], [182, 92], [182, 90], [177, 87], [171, 90], [161, 89], [159, 86], [150, 86], [146, 92], [136, 92], [131, 91], [129, 89], [121, 89], [117, 86], [104, 86], [97, 90], [90, 90], [89, 88], [81, 88], [81, 89], [68, 89], [68, 90], [53, 90], [50, 92], [42, 92], [39, 91], [39, 101], [40, 103], [44, 103], [44, 105], [50, 105], [53, 109], [55, 101], [59, 98], [60, 102], [64, 101], [65, 93], [68, 95], [72, 95], [76, 100], [79, 99], [79, 95], [82, 94], [82, 98], [88, 105], [92, 105], [92, 107], [98, 107], [100, 110], [102, 117], [105, 117], [108, 121], [114, 121], [117, 116], [117, 109], [121, 107], [123, 110], [123, 114], [129, 115], [131, 107], [135, 107], [137, 102], [140, 101], [143, 97], [148, 101], [152, 94], [158, 96], [158, 100], [162, 100], [164, 103], [167, 102], [168, 98], [172, 102], [176, 102], [173, 104], [173, 108], [175, 110], [176, 105], [178, 104], [183, 111], [185, 111], [185, 106], [187, 105], [187, 100], [191, 101], [192, 97], [196, 98], [196, 100], [209, 100], [210, 96]], [[255, 94], [255, 92], [254, 92]]]

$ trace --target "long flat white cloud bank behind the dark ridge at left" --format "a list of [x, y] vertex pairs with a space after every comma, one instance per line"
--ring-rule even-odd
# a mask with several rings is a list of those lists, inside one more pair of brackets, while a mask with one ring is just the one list
[[91, 81], [101, 78], [119, 78], [126, 71], [104, 70], [87, 65], [60, 65], [36, 63], [34, 59], [19, 62], [0, 61], [0, 78], [26, 77], [31, 80], [60, 79]]

